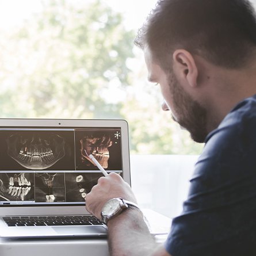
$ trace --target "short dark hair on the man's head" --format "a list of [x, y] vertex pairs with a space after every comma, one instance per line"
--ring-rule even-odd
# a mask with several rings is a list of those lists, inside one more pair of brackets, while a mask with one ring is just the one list
[[164, 70], [178, 48], [218, 66], [244, 67], [256, 46], [255, 11], [247, 0], [159, 0], [135, 44], [149, 47]]

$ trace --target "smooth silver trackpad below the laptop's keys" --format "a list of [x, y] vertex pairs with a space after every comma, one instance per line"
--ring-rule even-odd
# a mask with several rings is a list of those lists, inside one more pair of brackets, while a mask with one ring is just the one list
[[106, 228], [102, 226], [86, 226], [86, 227], [52, 227], [52, 229], [59, 235], [71, 235], [71, 236], [102, 236], [107, 234]]

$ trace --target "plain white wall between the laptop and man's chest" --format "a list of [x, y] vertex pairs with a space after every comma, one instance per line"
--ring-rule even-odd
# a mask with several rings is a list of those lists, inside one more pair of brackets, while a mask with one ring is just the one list
[[167, 217], [182, 210], [198, 156], [131, 155], [131, 186], [140, 207]]

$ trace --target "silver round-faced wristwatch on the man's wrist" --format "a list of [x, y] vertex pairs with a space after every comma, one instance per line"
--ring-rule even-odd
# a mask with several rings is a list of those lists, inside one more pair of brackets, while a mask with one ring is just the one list
[[136, 207], [139, 209], [139, 207], [134, 203], [127, 200], [124, 200], [123, 198], [113, 198], [110, 199], [104, 207], [102, 207], [101, 211], [101, 217], [102, 221], [107, 224], [110, 219], [113, 219], [114, 217], [120, 215], [121, 212], [123, 212], [125, 209], [129, 208], [130, 206]]

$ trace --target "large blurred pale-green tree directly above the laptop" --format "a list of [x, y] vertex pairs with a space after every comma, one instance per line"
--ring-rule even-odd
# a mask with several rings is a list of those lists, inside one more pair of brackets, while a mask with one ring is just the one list
[[[113, 82], [119, 90], [128, 84], [125, 60], [133, 56], [134, 33], [124, 29], [121, 14], [100, 1], [44, 1], [42, 7], [8, 35], [1, 51], [1, 82], [8, 85], [2, 98], [9, 95], [1, 116], [121, 117], [122, 103], [109, 102], [118, 95], [105, 95]], [[15, 107], [6, 112], [10, 102]]]

